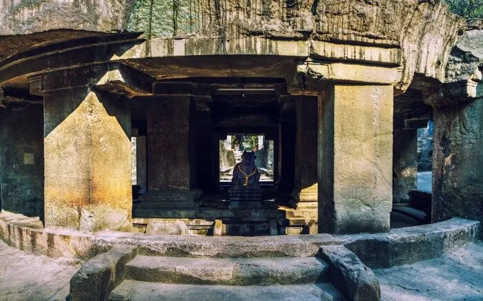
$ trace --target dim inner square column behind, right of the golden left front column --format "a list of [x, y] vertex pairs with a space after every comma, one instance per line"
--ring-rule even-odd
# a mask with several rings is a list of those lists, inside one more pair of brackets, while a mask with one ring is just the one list
[[148, 194], [141, 200], [190, 203], [198, 197], [194, 191], [195, 101], [189, 95], [166, 95], [150, 99], [147, 107]]

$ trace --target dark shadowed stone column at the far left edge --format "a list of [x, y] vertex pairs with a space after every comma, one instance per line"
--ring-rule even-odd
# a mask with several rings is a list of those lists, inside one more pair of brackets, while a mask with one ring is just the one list
[[43, 218], [43, 106], [0, 108], [0, 209]]

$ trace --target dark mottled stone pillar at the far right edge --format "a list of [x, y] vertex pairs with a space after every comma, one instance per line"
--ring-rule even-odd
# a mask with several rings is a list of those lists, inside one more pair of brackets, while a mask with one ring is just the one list
[[483, 99], [434, 107], [433, 222], [483, 221]]

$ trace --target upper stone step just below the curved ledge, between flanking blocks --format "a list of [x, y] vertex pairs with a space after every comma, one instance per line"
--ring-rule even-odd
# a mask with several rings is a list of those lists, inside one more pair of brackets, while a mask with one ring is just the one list
[[272, 285], [326, 282], [328, 264], [319, 258], [183, 258], [138, 255], [126, 278], [176, 284]]

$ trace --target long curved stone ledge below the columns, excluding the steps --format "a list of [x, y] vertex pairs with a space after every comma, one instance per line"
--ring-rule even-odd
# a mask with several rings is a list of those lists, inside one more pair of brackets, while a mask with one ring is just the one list
[[8, 245], [51, 257], [90, 258], [113, 245], [137, 245], [141, 253], [184, 257], [311, 257], [323, 245], [345, 245], [368, 267], [391, 267], [436, 258], [475, 239], [480, 223], [452, 218], [388, 233], [333, 236], [176, 236], [119, 231], [95, 234], [44, 229], [38, 219], [0, 214], [0, 237]]

